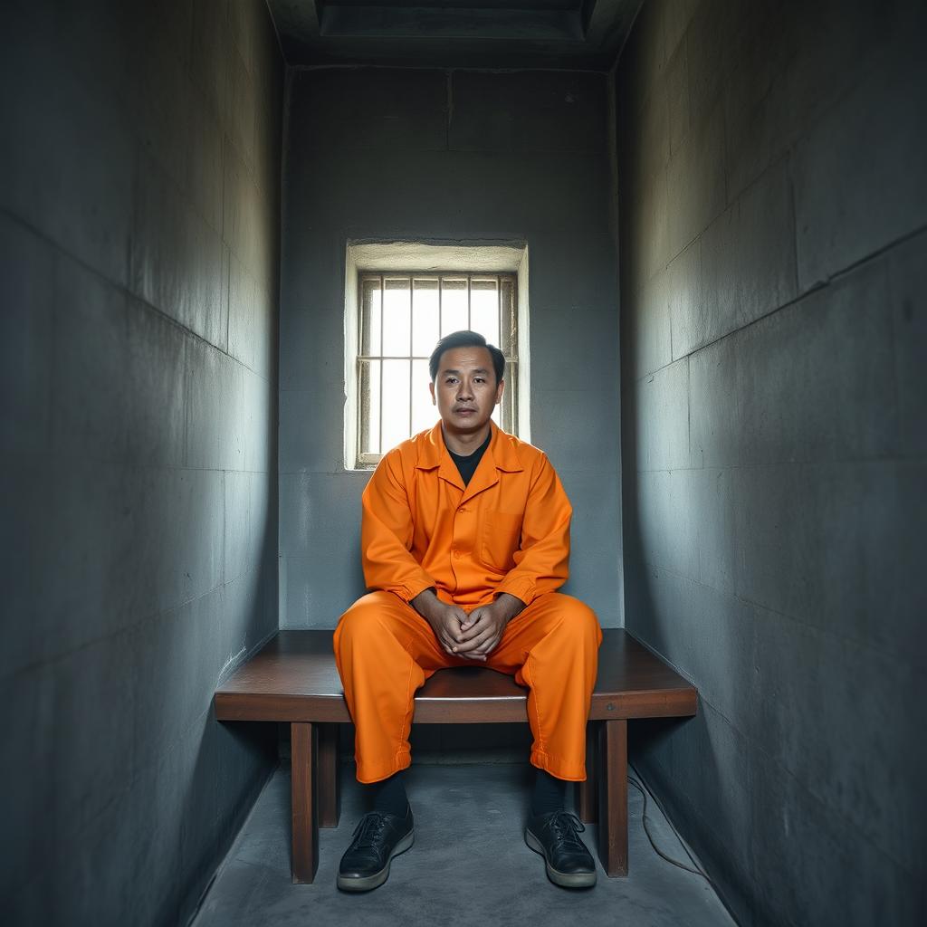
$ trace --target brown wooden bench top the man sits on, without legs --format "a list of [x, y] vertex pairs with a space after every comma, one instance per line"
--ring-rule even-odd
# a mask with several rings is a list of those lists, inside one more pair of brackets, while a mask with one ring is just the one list
[[[603, 630], [591, 720], [695, 714], [690, 682], [619, 628]], [[215, 695], [222, 721], [349, 721], [331, 630], [279, 631]], [[527, 721], [527, 690], [486, 667], [435, 673], [415, 696], [416, 723]]]

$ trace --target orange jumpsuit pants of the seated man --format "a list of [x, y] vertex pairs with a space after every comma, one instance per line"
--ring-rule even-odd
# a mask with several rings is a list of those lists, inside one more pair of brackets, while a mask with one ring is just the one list
[[335, 658], [356, 730], [357, 778], [375, 782], [412, 763], [413, 698], [438, 669], [487, 666], [527, 686], [530, 760], [557, 779], [586, 779], [586, 720], [602, 630], [589, 607], [540, 595], [508, 623], [481, 664], [447, 654], [411, 605], [370, 592], [338, 622]]

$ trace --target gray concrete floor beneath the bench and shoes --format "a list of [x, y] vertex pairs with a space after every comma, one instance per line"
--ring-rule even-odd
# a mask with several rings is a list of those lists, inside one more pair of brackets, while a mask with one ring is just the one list
[[[415, 845], [396, 857], [385, 885], [365, 895], [335, 887], [338, 859], [362, 813], [344, 768], [341, 823], [320, 832], [315, 882], [294, 885], [289, 874], [289, 770], [279, 769], [222, 864], [195, 927], [700, 927], [733, 924], [705, 880], [658, 857], [641, 826], [641, 794], [630, 789], [627, 879], [599, 871], [595, 888], [567, 891], [548, 882], [540, 856], [522, 838], [527, 766], [414, 766], [408, 775]], [[688, 859], [653, 801], [647, 818], [660, 848]], [[595, 845], [595, 828], [584, 834]]]

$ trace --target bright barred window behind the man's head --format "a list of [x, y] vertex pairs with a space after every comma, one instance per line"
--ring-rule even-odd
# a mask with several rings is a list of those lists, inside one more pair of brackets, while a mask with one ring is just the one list
[[505, 391], [493, 419], [517, 434], [518, 333], [513, 273], [358, 275], [358, 466], [438, 421], [428, 357], [439, 337], [469, 328], [505, 355]]

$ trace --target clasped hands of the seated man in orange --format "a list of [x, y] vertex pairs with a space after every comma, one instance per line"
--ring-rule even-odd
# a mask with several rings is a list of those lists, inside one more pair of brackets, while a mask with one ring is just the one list
[[525, 607], [521, 599], [502, 592], [494, 602], [478, 605], [468, 615], [459, 605], [441, 602], [430, 589], [410, 604], [431, 625], [446, 653], [483, 662], [502, 641], [505, 626]]

